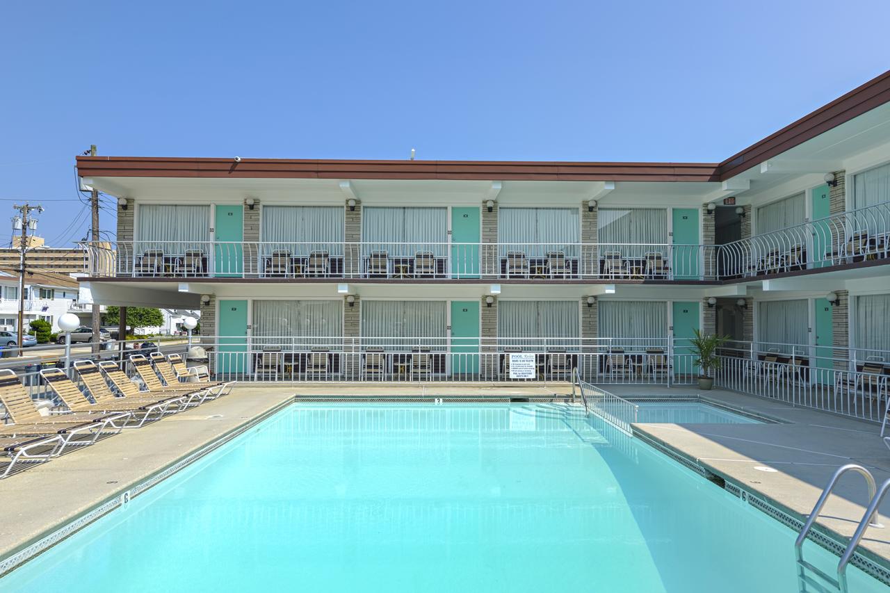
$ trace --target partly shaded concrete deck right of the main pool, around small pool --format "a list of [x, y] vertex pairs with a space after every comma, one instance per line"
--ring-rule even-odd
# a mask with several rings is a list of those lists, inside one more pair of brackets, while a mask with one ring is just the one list
[[[808, 516], [831, 475], [845, 463], [867, 467], [878, 486], [890, 478], [890, 450], [879, 437], [880, 426], [874, 423], [722, 389], [603, 387], [624, 397], [700, 395], [781, 420], [776, 424], [635, 424], [634, 429], [791, 516]], [[837, 495], [829, 498], [815, 528], [846, 542], [865, 513], [868, 490], [862, 476], [848, 474], [837, 483], [834, 492]], [[886, 527], [870, 527], [862, 538], [860, 551], [879, 564], [890, 566], [890, 496], [879, 511], [880, 523]]]

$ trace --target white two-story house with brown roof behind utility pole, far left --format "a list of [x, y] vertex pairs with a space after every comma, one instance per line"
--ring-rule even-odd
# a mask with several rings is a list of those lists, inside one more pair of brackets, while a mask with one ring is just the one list
[[[25, 275], [25, 328], [42, 319], [59, 331], [64, 313], [77, 313], [77, 280], [52, 272]], [[19, 327], [19, 272], [0, 269], [0, 328], [17, 331]]]

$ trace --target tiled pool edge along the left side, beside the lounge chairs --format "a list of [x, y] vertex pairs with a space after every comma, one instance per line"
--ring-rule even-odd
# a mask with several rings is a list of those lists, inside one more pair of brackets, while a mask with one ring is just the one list
[[232, 439], [238, 437], [239, 435], [243, 435], [257, 424], [263, 422], [263, 420], [270, 418], [271, 416], [278, 413], [280, 410], [287, 408], [287, 406], [292, 405], [293, 403], [294, 398], [289, 398], [284, 402], [279, 402], [269, 410], [265, 410], [262, 414], [255, 416], [254, 418], [250, 418], [243, 424], [235, 426], [230, 431], [216, 437], [212, 442], [201, 445], [197, 449], [193, 449], [192, 451], [185, 453], [179, 459], [172, 461], [171, 463], [167, 464], [166, 467], [162, 467], [158, 471], [140, 480], [139, 482], [117, 490], [114, 494], [101, 501], [98, 505], [90, 510], [85, 511], [74, 519], [61, 524], [57, 524], [46, 530], [44, 533], [36, 536], [35, 538], [23, 542], [10, 554], [7, 554], [4, 558], [0, 559], [0, 579], [2, 579], [6, 573], [10, 573], [12, 570], [15, 570], [20, 565], [25, 564], [26, 562], [32, 560], [34, 557], [39, 556], [40, 554], [43, 554], [46, 550], [52, 548], [56, 544], [60, 543], [62, 540], [66, 540], [71, 535], [74, 535], [75, 533], [84, 529], [86, 526], [97, 521], [102, 516], [108, 515], [116, 508], [122, 507], [134, 497], [142, 494], [145, 491], [148, 491], [152, 486], [157, 486], [158, 483], [161, 483], [168, 477], [175, 475], [183, 468], [190, 466], [195, 461], [198, 461], [198, 459], [206, 457], [207, 454], [216, 451], [224, 444], [229, 443]]

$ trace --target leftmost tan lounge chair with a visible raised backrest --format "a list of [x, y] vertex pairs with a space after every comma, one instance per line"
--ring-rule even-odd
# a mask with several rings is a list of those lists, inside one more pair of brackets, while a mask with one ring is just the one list
[[[71, 413], [43, 416], [37, 410], [28, 390], [10, 369], [0, 370], [0, 403], [12, 424], [0, 426], [0, 436], [53, 436], [60, 435], [62, 442], [58, 454], [68, 446], [90, 445], [104, 432], [120, 432], [119, 428], [108, 430], [109, 420], [93, 414]], [[81, 439], [81, 436], [85, 436]]]

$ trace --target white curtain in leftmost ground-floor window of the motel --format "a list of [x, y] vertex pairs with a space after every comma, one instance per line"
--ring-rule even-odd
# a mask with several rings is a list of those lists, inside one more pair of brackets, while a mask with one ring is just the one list
[[255, 300], [254, 345], [281, 345], [295, 350], [332, 347], [343, 336], [343, 301]]

